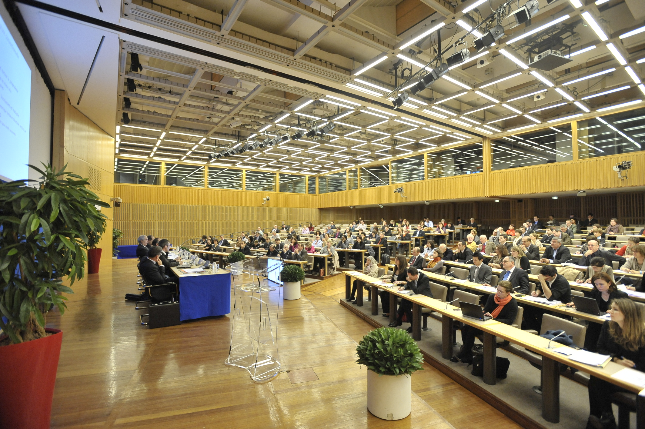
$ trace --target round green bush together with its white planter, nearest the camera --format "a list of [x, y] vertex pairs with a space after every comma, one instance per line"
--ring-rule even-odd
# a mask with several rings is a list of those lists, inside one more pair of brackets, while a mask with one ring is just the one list
[[410, 415], [412, 373], [422, 370], [423, 355], [402, 329], [378, 328], [362, 337], [356, 363], [367, 366], [367, 408], [385, 420]]

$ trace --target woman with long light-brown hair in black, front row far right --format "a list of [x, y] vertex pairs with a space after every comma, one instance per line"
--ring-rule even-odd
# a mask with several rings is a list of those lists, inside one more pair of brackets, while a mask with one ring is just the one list
[[[611, 320], [602, 324], [597, 352], [611, 356], [612, 361], [626, 368], [645, 372], [645, 321], [640, 308], [631, 299], [617, 298], [611, 301], [608, 313]], [[616, 427], [611, 406], [613, 392], [628, 391], [591, 375], [588, 428]]]

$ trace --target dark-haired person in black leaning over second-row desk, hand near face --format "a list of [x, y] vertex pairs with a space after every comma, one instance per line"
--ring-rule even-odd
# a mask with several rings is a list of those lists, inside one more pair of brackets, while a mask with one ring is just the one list
[[[571, 302], [571, 287], [564, 275], [558, 274], [555, 266], [544, 265], [537, 275], [539, 284], [531, 292], [531, 296], [545, 297], [548, 301], [560, 301], [562, 304]], [[540, 307], [524, 305], [524, 322], [526, 329], [540, 331], [542, 326], [542, 315], [548, 312]], [[522, 328], [524, 329], [524, 328]]]

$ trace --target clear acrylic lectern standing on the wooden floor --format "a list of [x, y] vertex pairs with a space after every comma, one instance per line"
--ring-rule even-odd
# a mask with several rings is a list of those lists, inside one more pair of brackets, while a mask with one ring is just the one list
[[268, 381], [280, 372], [277, 318], [282, 266], [279, 259], [258, 257], [226, 267], [233, 275], [234, 304], [224, 363], [244, 368], [253, 381]]

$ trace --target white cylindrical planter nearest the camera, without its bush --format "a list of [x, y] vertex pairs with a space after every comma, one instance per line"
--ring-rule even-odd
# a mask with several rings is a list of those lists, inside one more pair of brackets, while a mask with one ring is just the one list
[[367, 370], [367, 409], [384, 420], [400, 420], [410, 415], [411, 375], [379, 375]]

